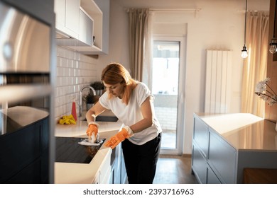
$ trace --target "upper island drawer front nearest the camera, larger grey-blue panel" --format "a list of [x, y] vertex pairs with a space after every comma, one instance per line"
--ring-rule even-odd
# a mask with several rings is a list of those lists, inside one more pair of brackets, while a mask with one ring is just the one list
[[236, 183], [237, 151], [215, 132], [210, 132], [208, 163], [222, 183]]

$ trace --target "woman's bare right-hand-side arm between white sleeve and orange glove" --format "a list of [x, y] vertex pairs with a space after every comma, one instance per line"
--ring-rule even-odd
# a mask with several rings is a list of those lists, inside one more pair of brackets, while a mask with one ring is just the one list
[[149, 96], [141, 105], [143, 119], [129, 126], [134, 133], [141, 132], [143, 129], [151, 127], [154, 117], [153, 97]]

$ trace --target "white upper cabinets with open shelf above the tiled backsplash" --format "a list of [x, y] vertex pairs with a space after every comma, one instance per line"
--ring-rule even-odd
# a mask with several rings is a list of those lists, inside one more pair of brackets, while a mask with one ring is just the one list
[[109, 1], [55, 0], [56, 29], [62, 33], [57, 44], [82, 54], [107, 54]]

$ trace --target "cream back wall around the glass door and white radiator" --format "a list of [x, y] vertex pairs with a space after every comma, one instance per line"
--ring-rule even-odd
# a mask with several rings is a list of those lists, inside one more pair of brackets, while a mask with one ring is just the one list
[[[240, 112], [244, 45], [245, 1], [232, 0], [113, 0], [110, 13], [109, 55], [99, 57], [98, 74], [109, 62], [129, 68], [128, 15], [126, 8], [201, 8], [194, 13], [156, 17], [156, 23], [178, 23], [187, 27], [185, 61], [185, 135], [183, 153], [191, 153], [193, 112], [204, 111], [206, 49], [233, 50], [232, 112]], [[269, 0], [249, 0], [249, 10], [268, 11]], [[180, 25], [184, 29], [184, 25]], [[184, 30], [185, 31], [185, 30]]]

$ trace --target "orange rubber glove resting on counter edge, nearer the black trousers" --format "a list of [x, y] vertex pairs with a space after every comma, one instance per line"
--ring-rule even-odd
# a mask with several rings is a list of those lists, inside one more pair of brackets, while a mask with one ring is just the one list
[[115, 148], [121, 141], [124, 141], [126, 138], [133, 136], [134, 132], [130, 129], [130, 127], [124, 127], [118, 132], [116, 135], [112, 136], [109, 141], [105, 144], [105, 146], [109, 146], [111, 148]]

